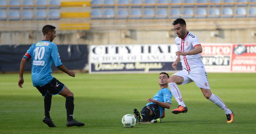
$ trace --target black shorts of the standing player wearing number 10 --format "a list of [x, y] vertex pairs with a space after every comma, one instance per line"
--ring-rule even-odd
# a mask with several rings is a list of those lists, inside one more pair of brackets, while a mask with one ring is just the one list
[[64, 89], [65, 84], [61, 83], [56, 78], [53, 78], [50, 82], [45, 84], [44, 86], [36, 86], [38, 91], [42, 94], [43, 97], [46, 96], [48, 91], [51, 93], [51, 95], [57, 95]]

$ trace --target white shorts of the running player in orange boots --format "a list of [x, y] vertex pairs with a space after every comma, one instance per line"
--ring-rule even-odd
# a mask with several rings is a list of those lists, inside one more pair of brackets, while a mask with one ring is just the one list
[[195, 82], [195, 85], [199, 88], [210, 89], [210, 85], [207, 79], [207, 73], [204, 69], [187, 71], [183, 69], [182, 71], [176, 72], [173, 75], [181, 76], [184, 81], [181, 85], [188, 84], [190, 82]]

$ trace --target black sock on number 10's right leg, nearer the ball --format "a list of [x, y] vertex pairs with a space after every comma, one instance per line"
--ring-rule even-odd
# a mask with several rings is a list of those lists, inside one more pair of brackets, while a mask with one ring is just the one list
[[67, 110], [67, 121], [73, 120], [74, 112], [74, 97], [66, 97], [66, 110]]

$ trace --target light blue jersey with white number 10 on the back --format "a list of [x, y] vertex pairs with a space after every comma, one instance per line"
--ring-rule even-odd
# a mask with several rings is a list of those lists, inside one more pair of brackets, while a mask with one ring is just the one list
[[44, 86], [53, 79], [52, 64], [56, 67], [62, 64], [56, 44], [50, 41], [39, 41], [33, 44], [23, 56], [32, 59], [32, 82], [33, 86]]

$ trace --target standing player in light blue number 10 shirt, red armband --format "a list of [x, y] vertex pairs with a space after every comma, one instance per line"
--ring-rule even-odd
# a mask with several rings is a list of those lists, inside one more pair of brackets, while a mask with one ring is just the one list
[[36, 87], [44, 97], [45, 103], [45, 117], [43, 122], [49, 127], [56, 127], [50, 117], [50, 109], [52, 103], [52, 95], [62, 95], [66, 98], [66, 111], [67, 121], [66, 126], [84, 126], [84, 123], [78, 122], [73, 119], [74, 111], [74, 95], [73, 93], [59, 80], [54, 78], [52, 73], [52, 64], [54, 63], [63, 72], [69, 76], [74, 77], [75, 73], [68, 70], [62, 64], [56, 44], [52, 43], [56, 37], [55, 26], [45, 25], [42, 29], [44, 34], [44, 40], [33, 44], [27, 53], [23, 56], [20, 65], [20, 78], [18, 86], [22, 88], [24, 83], [23, 72], [26, 61], [32, 60], [32, 82], [33, 86]]

